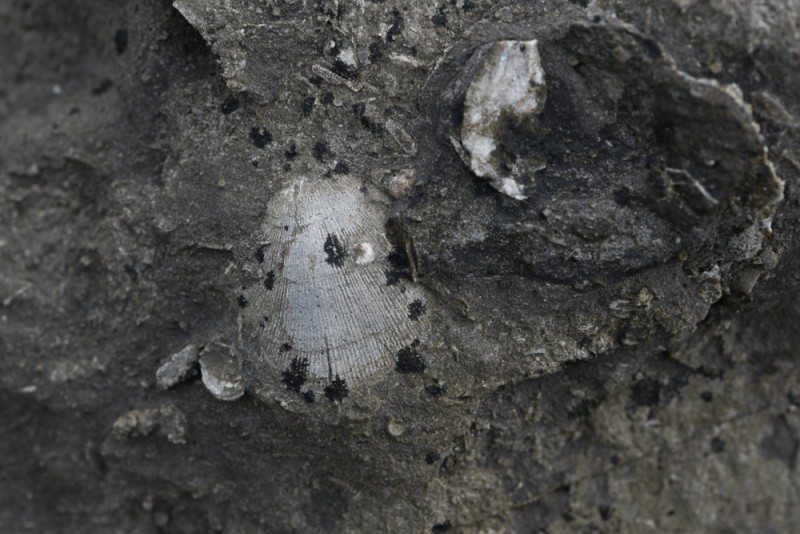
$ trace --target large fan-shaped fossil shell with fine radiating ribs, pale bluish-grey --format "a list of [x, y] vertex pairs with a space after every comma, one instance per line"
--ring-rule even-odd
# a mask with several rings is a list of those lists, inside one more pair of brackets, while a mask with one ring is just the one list
[[425, 299], [390, 276], [395, 247], [376, 197], [351, 176], [297, 177], [267, 207], [262, 281], [245, 291], [242, 313], [257, 363], [283, 372], [290, 389], [351, 385], [420, 336]]

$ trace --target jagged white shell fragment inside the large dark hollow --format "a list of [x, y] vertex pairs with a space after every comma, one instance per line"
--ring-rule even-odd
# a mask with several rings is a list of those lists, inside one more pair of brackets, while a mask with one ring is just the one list
[[461, 144], [472, 172], [489, 180], [501, 193], [525, 200], [523, 186], [501, 167], [499, 135], [544, 107], [546, 88], [539, 49], [532, 41], [498, 41], [477, 52], [478, 74], [467, 89]]

